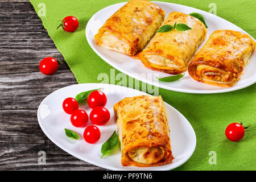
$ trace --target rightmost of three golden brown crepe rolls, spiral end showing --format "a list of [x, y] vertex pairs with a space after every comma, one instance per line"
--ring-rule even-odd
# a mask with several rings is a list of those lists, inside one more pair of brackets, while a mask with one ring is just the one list
[[205, 84], [233, 86], [240, 80], [254, 48], [254, 40], [242, 32], [214, 31], [189, 64], [188, 73]]

